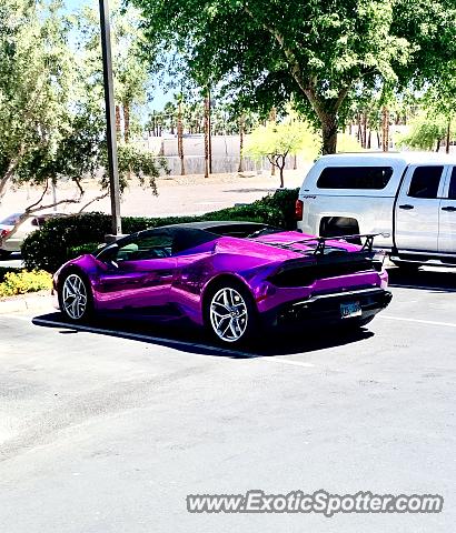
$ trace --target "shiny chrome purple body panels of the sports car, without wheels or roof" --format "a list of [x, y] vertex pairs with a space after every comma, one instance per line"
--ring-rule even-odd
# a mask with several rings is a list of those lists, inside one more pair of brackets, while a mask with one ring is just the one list
[[[375, 270], [317, 279], [304, 286], [276, 286], [269, 278], [286, 261], [311, 261], [313, 255], [271, 245], [311, 238], [297, 232], [282, 232], [240, 239], [219, 237], [169, 258], [123, 261], [115, 265], [93, 255], [82, 255], [62, 265], [54, 275], [54, 289], [69, 271], [82, 271], [99, 312], [122, 312], [131, 315], [163, 316], [172, 308], [176, 316], [204, 323], [204, 300], [211, 283], [221, 276], [236, 278], [249, 290], [259, 313], [274, 312], [284, 304], [318, 294], [340, 293], [359, 288], [387, 288], [387, 273]], [[328, 247], [357, 252], [359, 247], [345, 241], [328, 241]], [[311, 243], [296, 243], [297, 250], [311, 250]]]

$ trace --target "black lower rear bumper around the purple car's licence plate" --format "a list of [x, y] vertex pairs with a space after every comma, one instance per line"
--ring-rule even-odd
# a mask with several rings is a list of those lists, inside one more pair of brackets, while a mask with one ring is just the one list
[[[379, 288], [319, 294], [275, 308], [264, 313], [262, 319], [267, 326], [285, 329], [363, 322], [385, 309], [391, 298], [389, 291]], [[343, 318], [340, 304], [355, 302], [359, 304], [361, 314], [356, 318]]]

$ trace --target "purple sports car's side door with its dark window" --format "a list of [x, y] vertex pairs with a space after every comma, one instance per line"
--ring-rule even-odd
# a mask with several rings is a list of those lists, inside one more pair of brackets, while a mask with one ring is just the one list
[[115, 254], [101, 254], [96, 286], [100, 308], [161, 314], [169, 306], [169, 294], [176, 271], [172, 235], [150, 230], [119, 242]]

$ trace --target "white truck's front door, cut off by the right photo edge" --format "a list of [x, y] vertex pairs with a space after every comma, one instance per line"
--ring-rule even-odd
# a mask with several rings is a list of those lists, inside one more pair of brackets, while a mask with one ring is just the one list
[[439, 211], [438, 251], [456, 254], [456, 167], [449, 167]]

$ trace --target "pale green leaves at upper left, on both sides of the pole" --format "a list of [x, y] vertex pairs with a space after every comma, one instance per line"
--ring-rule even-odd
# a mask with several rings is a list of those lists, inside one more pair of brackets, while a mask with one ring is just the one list
[[[107, 168], [107, 149], [98, 10], [83, 9], [87, 17], [71, 18], [60, 9], [58, 0], [6, 0], [0, 6], [0, 201], [10, 183], [47, 188], [70, 179], [80, 198], [59, 200], [75, 203], [82, 200], [82, 178], [99, 175], [102, 193], [108, 192], [107, 172], [99, 174]], [[77, 24], [81, 42], [75, 53], [69, 40], [75, 40], [70, 32]], [[116, 4], [117, 99], [128, 108], [123, 122], [129, 131], [130, 111], [146, 100], [147, 90], [146, 67], [137, 57], [138, 26], [137, 10], [122, 13]], [[119, 145], [122, 190], [137, 177], [157, 194], [155, 179], [161, 170], [162, 159], [139, 147]]]

